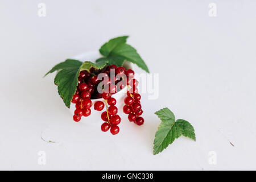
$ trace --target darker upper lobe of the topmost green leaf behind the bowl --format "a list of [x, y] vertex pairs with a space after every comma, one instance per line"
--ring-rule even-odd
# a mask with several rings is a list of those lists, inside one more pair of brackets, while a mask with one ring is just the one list
[[121, 44], [126, 43], [126, 39], [128, 36], [119, 36], [118, 38], [110, 39], [109, 42], [105, 43], [103, 46], [100, 48], [100, 53], [103, 56], [108, 56], [110, 52], [115, 47], [118, 47]]

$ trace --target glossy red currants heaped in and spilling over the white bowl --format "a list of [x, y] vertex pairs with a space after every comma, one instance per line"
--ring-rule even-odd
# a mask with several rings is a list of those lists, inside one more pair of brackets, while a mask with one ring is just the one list
[[118, 134], [121, 117], [117, 114], [118, 108], [115, 106], [117, 101], [112, 96], [126, 87], [127, 97], [124, 100], [123, 113], [128, 114], [130, 122], [143, 125], [141, 95], [138, 93], [137, 86], [138, 80], [134, 78], [132, 69], [126, 70], [114, 64], [104, 69], [92, 67], [89, 71], [81, 71], [76, 93], [71, 101], [76, 104], [73, 120], [79, 122], [82, 116], [88, 117], [91, 113], [90, 107], [93, 105], [92, 100], [103, 98], [104, 101], [94, 102], [95, 110], [102, 111], [105, 108], [101, 113], [101, 119], [104, 121], [101, 130], [106, 132], [110, 129], [113, 135]]

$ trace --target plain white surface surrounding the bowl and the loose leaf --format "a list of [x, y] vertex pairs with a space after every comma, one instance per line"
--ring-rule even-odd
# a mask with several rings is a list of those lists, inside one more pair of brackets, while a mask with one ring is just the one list
[[[214, 1], [210, 17], [211, 2], [1, 0], [0, 169], [256, 169], [256, 2]], [[113, 136], [73, 122], [54, 74], [43, 75], [121, 35], [159, 73], [159, 98], [143, 94], [144, 125], [121, 114]], [[153, 155], [162, 107], [192, 123], [196, 142], [181, 137]]]

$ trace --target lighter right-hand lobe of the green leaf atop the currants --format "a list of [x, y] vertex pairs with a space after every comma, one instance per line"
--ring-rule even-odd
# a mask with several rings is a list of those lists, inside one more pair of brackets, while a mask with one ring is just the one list
[[136, 49], [128, 44], [120, 44], [119, 46], [115, 47], [112, 52], [109, 53], [109, 56], [123, 57], [123, 60], [137, 64], [139, 68], [142, 68], [144, 71], [149, 73], [147, 65], [144, 63], [141, 56], [139, 56]]

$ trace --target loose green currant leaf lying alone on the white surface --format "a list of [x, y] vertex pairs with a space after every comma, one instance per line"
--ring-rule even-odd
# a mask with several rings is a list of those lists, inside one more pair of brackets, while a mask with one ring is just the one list
[[158, 115], [162, 122], [155, 134], [154, 154], [162, 152], [164, 148], [168, 147], [181, 135], [196, 140], [193, 126], [183, 119], [177, 119], [175, 122], [174, 113], [170, 109], [164, 108], [156, 111], [155, 114]]

